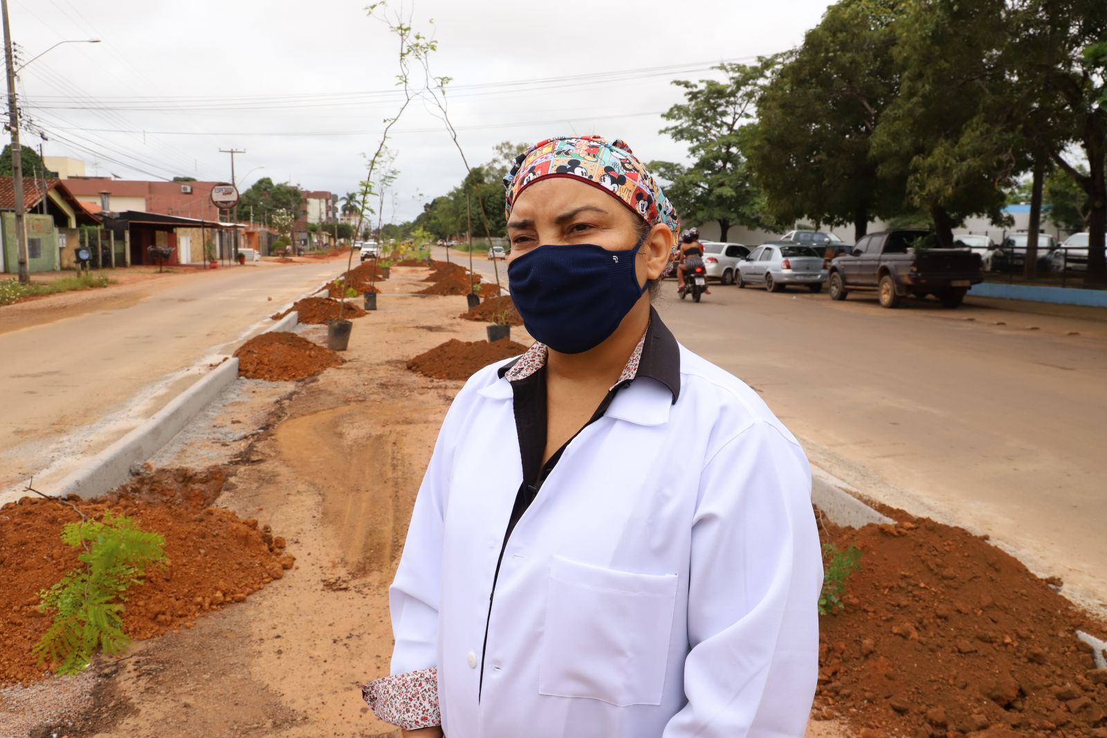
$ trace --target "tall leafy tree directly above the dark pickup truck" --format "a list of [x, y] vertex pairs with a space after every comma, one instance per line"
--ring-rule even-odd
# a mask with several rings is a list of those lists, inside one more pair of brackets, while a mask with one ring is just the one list
[[877, 126], [872, 152], [882, 179], [907, 181], [939, 245], [952, 247], [966, 217], [1005, 218], [1005, 189], [1025, 166], [1018, 136], [996, 117], [1010, 100], [1001, 44], [1005, 0], [906, 0], [893, 58], [899, 94]]

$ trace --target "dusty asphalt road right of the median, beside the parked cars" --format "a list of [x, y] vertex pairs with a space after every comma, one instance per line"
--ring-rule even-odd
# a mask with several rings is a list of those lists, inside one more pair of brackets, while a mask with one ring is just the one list
[[[474, 264], [490, 274], [483, 252]], [[755, 387], [816, 466], [987, 533], [1107, 609], [1107, 310], [675, 290], [658, 308], [676, 337]]]

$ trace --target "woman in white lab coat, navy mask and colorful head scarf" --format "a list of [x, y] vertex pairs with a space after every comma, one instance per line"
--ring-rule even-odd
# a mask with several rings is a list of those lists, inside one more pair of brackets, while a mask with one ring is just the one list
[[803, 736], [810, 471], [651, 308], [672, 206], [597, 136], [536, 144], [505, 185], [538, 343], [446, 414], [391, 589], [391, 675], [365, 699], [418, 738]]

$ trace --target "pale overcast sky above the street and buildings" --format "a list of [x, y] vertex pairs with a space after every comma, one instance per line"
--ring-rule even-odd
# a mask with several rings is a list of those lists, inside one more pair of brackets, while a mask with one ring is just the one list
[[[592, 0], [573, 10], [420, 0], [406, 10], [418, 28], [431, 31], [434, 20], [432, 69], [453, 77], [451, 116], [469, 163], [479, 164], [498, 142], [560, 133], [622, 137], [643, 159], [679, 159], [683, 147], [659, 133], [660, 113], [681, 98], [672, 80], [794, 46], [828, 4]], [[128, 179], [229, 179], [229, 156], [218, 149], [239, 148], [242, 188], [269, 176], [340, 195], [356, 189], [382, 118], [399, 104], [394, 38], [364, 6], [9, 0], [18, 63], [58, 41], [102, 40], [61, 45], [21, 71], [23, 144]], [[393, 131], [400, 178], [385, 219], [399, 221], [456, 185], [464, 167], [423, 105]]]

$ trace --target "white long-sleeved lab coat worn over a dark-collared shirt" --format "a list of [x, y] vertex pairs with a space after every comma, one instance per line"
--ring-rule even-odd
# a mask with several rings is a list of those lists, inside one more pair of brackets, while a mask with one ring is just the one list
[[792, 434], [682, 346], [675, 404], [639, 378], [569, 444], [511, 534], [489, 619], [523, 476], [497, 366], [457, 395], [420, 489], [392, 673], [438, 668], [447, 738], [803, 736], [823, 567]]

